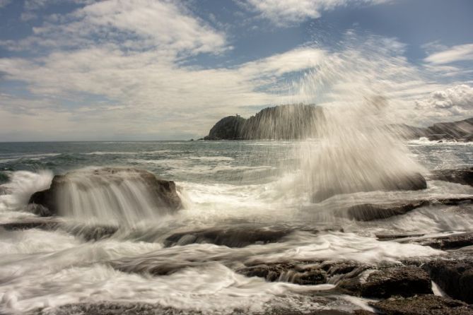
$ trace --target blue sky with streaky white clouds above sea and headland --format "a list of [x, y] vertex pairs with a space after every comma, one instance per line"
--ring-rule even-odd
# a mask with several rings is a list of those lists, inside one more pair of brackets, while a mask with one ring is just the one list
[[0, 0], [0, 141], [174, 140], [304, 102], [473, 117], [471, 0]]

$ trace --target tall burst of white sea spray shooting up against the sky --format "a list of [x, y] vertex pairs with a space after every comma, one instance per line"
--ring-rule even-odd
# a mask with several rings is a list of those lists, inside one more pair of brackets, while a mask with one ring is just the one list
[[[426, 188], [423, 168], [387, 129], [405, 105], [393, 91], [416, 74], [387, 44], [370, 40], [365, 47], [348, 40], [343, 51], [294, 84], [296, 100], [318, 103], [324, 112], [313, 126], [317, 138], [296, 150], [314, 202], [360, 191]], [[373, 49], [375, 44], [385, 48]]]

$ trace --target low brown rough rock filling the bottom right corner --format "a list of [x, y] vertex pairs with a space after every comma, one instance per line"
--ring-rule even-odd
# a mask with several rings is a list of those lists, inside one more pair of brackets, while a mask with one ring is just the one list
[[370, 303], [386, 315], [469, 315], [471, 306], [453, 299], [436, 295], [419, 295], [407, 299], [385, 299]]

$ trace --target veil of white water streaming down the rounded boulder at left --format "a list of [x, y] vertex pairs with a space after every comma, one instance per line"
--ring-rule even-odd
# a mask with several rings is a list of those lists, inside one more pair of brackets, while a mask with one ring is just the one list
[[143, 173], [127, 169], [69, 172], [56, 194], [59, 214], [101, 224], [132, 225], [158, 219], [168, 210], [157, 203]]

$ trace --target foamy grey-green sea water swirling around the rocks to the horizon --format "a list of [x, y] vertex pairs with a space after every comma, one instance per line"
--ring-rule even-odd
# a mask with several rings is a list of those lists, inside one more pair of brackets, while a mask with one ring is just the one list
[[[0, 227], [0, 313], [43, 309], [54, 314], [54, 308], [62, 305], [104, 301], [152, 303], [182, 314], [371, 309], [370, 299], [333, 292], [335, 278], [301, 285], [283, 278], [246, 276], [240, 270], [287, 260], [396, 263], [443, 251], [380, 240], [377, 235], [433, 237], [473, 230], [473, 213], [448, 205], [366, 222], [337, 215], [339, 209], [358, 203], [472, 196], [472, 186], [438, 181], [429, 174], [471, 167], [473, 143], [404, 141], [409, 158], [427, 179], [427, 189], [358, 192], [320, 203], [311, 202], [305, 189], [301, 145], [300, 141], [0, 143], [2, 225], [37, 219], [27, 210], [28, 199], [47, 189], [55, 174], [100, 167], [136, 168], [172, 180], [183, 203], [176, 213], [142, 218], [140, 213], [128, 217], [107, 209], [110, 215], [105, 217], [60, 218], [60, 228]], [[118, 202], [135, 211], [131, 201]], [[113, 226], [117, 232], [95, 239], [75, 232], [90, 226]], [[209, 229], [240, 234], [229, 244], [212, 242], [215, 239], [170, 244], [173, 234]], [[238, 243], [241, 234], [255, 230], [284, 235], [276, 242]]]

